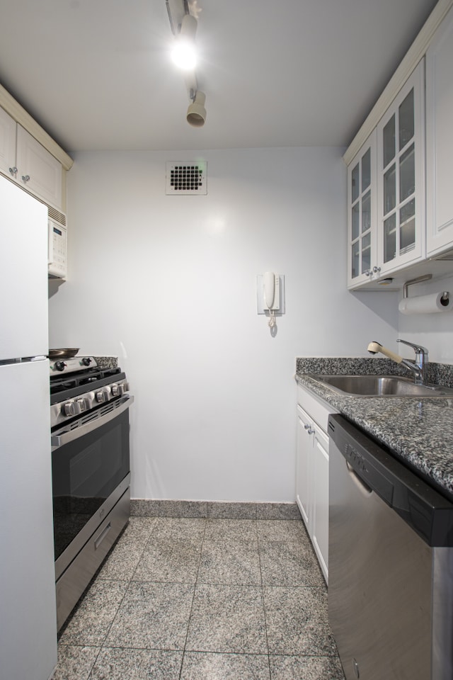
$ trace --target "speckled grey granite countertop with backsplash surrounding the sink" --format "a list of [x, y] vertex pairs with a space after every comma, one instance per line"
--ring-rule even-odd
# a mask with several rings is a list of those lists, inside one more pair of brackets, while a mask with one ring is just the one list
[[[429, 382], [452, 386], [452, 365], [429, 369]], [[453, 500], [453, 399], [343, 397], [309, 373], [407, 376], [407, 370], [381, 358], [297, 358], [296, 379]]]

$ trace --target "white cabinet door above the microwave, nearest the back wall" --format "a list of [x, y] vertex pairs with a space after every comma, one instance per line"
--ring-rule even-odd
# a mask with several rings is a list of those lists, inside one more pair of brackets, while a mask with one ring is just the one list
[[62, 166], [21, 125], [17, 126], [16, 164], [18, 182], [30, 193], [62, 210]]

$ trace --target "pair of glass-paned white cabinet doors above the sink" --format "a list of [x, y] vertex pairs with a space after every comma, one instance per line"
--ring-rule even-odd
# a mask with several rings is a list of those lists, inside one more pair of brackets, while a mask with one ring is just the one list
[[379, 288], [426, 254], [423, 60], [348, 165], [348, 288]]

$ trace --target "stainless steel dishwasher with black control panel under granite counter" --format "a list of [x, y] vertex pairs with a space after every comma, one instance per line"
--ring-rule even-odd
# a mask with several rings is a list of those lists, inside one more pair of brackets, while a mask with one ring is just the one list
[[348, 680], [452, 680], [453, 504], [331, 415], [328, 613]]

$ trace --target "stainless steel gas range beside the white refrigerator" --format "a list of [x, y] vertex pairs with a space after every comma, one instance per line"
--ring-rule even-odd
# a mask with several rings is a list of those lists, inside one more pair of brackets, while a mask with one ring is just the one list
[[130, 395], [90, 356], [50, 363], [58, 629], [130, 516]]

